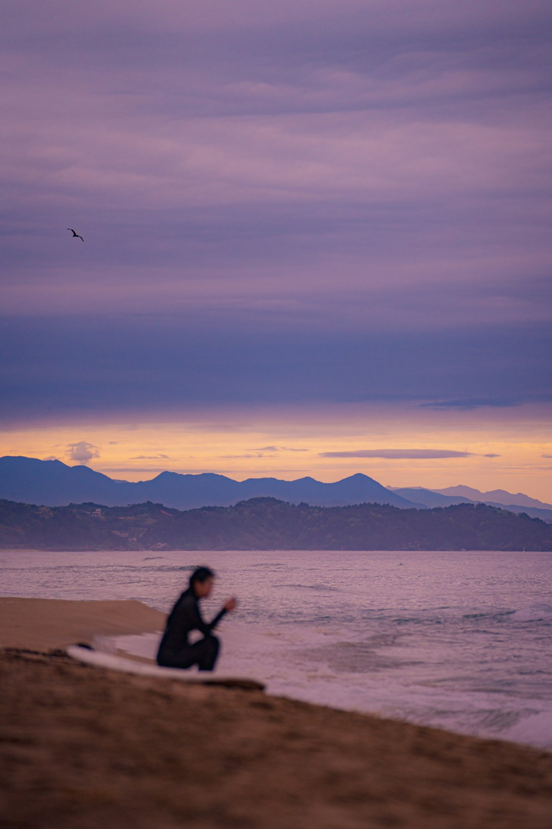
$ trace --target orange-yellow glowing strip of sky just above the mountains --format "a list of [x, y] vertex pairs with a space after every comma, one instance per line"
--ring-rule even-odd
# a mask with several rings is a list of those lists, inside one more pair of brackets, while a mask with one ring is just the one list
[[[463, 483], [482, 491], [525, 492], [551, 502], [550, 420], [521, 407], [500, 414], [498, 422], [496, 411], [397, 414], [356, 405], [318, 412], [227, 411], [224, 421], [220, 413], [211, 413], [187, 415], [176, 423], [36, 426], [0, 433], [0, 454], [58, 458], [70, 465], [85, 462], [110, 478], [129, 481], [154, 478], [164, 470], [213, 472], [236, 480], [310, 475], [321, 481], [361, 472], [394, 487]], [[322, 455], [390, 447], [469, 454], [415, 459]]]

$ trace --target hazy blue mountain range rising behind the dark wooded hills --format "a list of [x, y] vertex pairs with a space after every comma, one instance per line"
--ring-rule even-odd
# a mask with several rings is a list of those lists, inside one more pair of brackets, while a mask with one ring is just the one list
[[295, 481], [278, 478], [234, 481], [215, 473], [174, 472], [162, 472], [150, 481], [129, 482], [114, 480], [86, 466], [70, 467], [58, 460], [42, 461], [11, 455], [0, 458], [0, 498], [46, 507], [84, 502], [124, 507], [149, 501], [174, 509], [190, 510], [205, 506], [229, 507], [252, 497], [273, 497], [292, 504], [305, 502], [316, 507], [377, 503], [403, 509], [427, 509], [459, 503], [486, 503], [552, 522], [552, 504], [537, 501], [521, 492], [516, 495], [505, 490], [479, 492], [464, 486], [440, 490], [384, 487], [362, 473], [332, 483], [309, 477]]

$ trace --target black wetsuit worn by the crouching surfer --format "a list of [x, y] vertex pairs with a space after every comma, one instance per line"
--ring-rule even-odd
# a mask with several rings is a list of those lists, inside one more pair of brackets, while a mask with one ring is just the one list
[[[223, 608], [210, 623], [204, 622], [199, 612], [199, 599], [189, 588], [180, 596], [166, 622], [165, 633], [157, 652], [157, 664], [169, 668], [190, 668], [212, 671], [218, 657], [218, 638], [211, 631], [223, 618]], [[203, 639], [190, 645], [188, 634], [199, 630]]]

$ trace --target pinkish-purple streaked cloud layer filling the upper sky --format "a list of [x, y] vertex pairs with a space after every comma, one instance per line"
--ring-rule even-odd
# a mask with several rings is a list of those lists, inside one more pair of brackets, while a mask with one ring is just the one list
[[[0, 32], [13, 78], [3, 90], [13, 124], [4, 238], [12, 268], [28, 264], [41, 289], [38, 308], [42, 296], [45, 307], [90, 308], [77, 296], [88, 291], [103, 311], [141, 297], [167, 309], [194, 281], [209, 293], [218, 280], [235, 298], [238, 274], [242, 296], [257, 296], [276, 261], [271, 283], [294, 297], [337, 282], [330, 316], [347, 279], [360, 293], [387, 284], [390, 315], [395, 300], [397, 315], [446, 326], [467, 271], [471, 308], [525, 312], [504, 275], [542, 275], [546, 222], [530, 221], [547, 203], [542, 4], [470, 0], [463, 19], [425, 0], [410, 10], [371, 2], [369, 15], [350, 0], [338, 14], [311, 5], [298, 17], [287, 3], [272, 14], [217, 2], [184, 19], [167, 3], [155, 21], [122, 0], [78, 20], [59, 2], [47, 21], [36, 0], [14, 6]], [[90, 233], [82, 250], [57, 235], [77, 194]], [[63, 272], [70, 289], [53, 291]], [[415, 294], [430, 273], [446, 285], [434, 292], [443, 314], [389, 295], [388, 277]], [[492, 297], [478, 303], [492, 276]], [[12, 291], [28, 309], [25, 284]]]

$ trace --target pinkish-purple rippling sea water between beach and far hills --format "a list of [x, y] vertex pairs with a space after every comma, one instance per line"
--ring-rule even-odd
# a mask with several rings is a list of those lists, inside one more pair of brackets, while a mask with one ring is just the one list
[[[552, 749], [550, 553], [4, 551], [0, 592], [168, 611], [204, 564], [218, 574], [205, 618], [239, 600], [218, 628], [220, 671], [273, 694]], [[111, 647], [153, 656], [157, 642]]]

